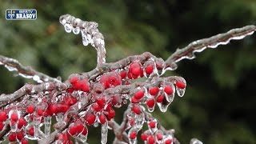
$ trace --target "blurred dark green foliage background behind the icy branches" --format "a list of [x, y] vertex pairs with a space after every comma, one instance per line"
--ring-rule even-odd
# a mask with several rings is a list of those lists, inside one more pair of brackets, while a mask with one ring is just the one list
[[[7, 21], [11, 8], [38, 11], [35, 21]], [[2, 1], [0, 54], [62, 80], [96, 66], [96, 50], [82, 46], [80, 35], [67, 34], [58, 22], [62, 14], [98, 22], [106, 40], [106, 61], [145, 51], [166, 59], [177, 48], [200, 38], [255, 24], [254, 0], [87, 0]], [[183, 98], [154, 116], [176, 130], [182, 143], [256, 143], [256, 34], [178, 62], [166, 75], [186, 79]], [[10, 94], [32, 82], [0, 67], [0, 94]], [[118, 110], [118, 118], [122, 118]], [[100, 129], [90, 127], [89, 143], [99, 143]], [[109, 143], [114, 136], [110, 133]]]

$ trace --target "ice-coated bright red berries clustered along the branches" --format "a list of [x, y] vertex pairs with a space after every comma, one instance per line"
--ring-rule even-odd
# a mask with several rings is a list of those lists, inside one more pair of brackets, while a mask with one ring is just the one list
[[[135, 86], [134, 89], [131, 88], [131, 90], [126, 92], [128, 97], [123, 97], [122, 94], [105, 95], [104, 93], [104, 90], [110, 90], [110, 88], [116, 86], [132, 85], [132, 80], [136, 78], [157, 76], [161, 73], [163, 67], [163, 63], [154, 62], [150, 59], [143, 63], [131, 62], [129, 66], [122, 70], [112, 70], [100, 74], [94, 80], [84, 78], [82, 75], [73, 75], [69, 78], [69, 87], [66, 91], [61, 91], [59, 94], [56, 94], [58, 90], [56, 90], [57, 92], [54, 90], [47, 91], [42, 94], [42, 98], [29, 102], [25, 109], [19, 108], [16, 110], [18, 106], [14, 106], [15, 108], [13, 109], [0, 111], [0, 130], [3, 130], [8, 125], [7, 123], [10, 123], [9, 141], [25, 144], [28, 142], [27, 138], [38, 138], [38, 134], [35, 132], [40, 130], [40, 127], [35, 129], [37, 127], [35, 125], [42, 123], [46, 126], [45, 119], [52, 116], [56, 117], [57, 122], [67, 122], [68, 118], [66, 117], [69, 115], [67, 113], [69, 113], [70, 107], [77, 106], [80, 111], [71, 116], [72, 121], [66, 130], [57, 135], [56, 142], [72, 143], [70, 137], [83, 138], [85, 142], [88, 134], [86, 125], [91, 126], [100, 123], [102, 126], [107, 126], [107, 122], [115, 116], [113, 106], [120, 107], [126, 103], [127, 99], [130, 99], [130, 111], [134, 114], [142, 114], [144, 110], [142, 104], [146, 104], [151, 112], [154, 110], [156, 103], [165, 104], [165, 102], [170, 102], [169, 97], [175, 92], [174, 84], [171, 82], [162, 82], [157, 85], [148, 83], [146, 86]], [[186, 82], [176, 79], [174, 83], [176, 89], [185, 90]], [[85, 98], [87, 98], [86, 101], [90, 102], [90, 104], [83, 107], [85, 103], [82, 101]], [[131, 118], [129, 122], [132, 127], [134, 120]], [[152, 122], [150, 123], [149, 126], [153, 128]], [[50, 130], [50, 128], [48, 129]], [[152, 143], [153, 139], [160, 138], [159, 134], [147, 134], [146, 141]], [[158, 136], [155, 137], [155, 135]], [[130, 139], [135, 137], [137, 137], [137, 131], [130, 134]], [[145, 140], [143, 138], [142, 140]]]

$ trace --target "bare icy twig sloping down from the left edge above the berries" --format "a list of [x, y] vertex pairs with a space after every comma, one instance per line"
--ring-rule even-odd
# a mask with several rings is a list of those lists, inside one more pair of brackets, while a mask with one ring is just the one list
[[58, 78], [51, 78], [46, 74], [42, 74], [30, 66], [22, 66], [18, 60], [14, 58], [7, 58], [0, 55], [0, 65], [6, 67], [6, 69], [10, 71], [17, 71], [19, 76], [23, 78], [32, 78], [35, 82], [42, 83], [42, 82], [61, 82]]

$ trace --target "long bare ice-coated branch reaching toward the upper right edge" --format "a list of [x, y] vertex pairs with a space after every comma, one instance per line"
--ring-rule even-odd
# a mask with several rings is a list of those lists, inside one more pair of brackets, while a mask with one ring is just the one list
[[177, 49], [174, 54], [166, 59], [166, 70], [176, 70], [177, 62], [182, 59], [193, 59], [195, 58], [195, 52], [202, 52], [206, 48], [216, 48], [219, 45], [226, 45], [230, 40], [239, 40], [245, 38], [247, 35], [254, 34], [256, 26], [244, 26], [242, 28], [237, 28], [229, 30], [223, 34], [217, 34], [210, 38], [203, 38], [194, 42], [191, 42], [188, 46]]

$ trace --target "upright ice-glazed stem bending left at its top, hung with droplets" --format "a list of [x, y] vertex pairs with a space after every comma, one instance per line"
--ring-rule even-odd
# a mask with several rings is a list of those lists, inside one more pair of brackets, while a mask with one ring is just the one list
[[68, 33], [73, 31], [74, 34], [79, 34], [81, 31], [83, 45], [87, 46], [91, 44], [97, 50], [97, 68], [100, 68], [106, 62], [106, 49], [104, 37], [97, 28], [98, 23], [82, 21], [79, 18], [74, 18], [70, 14], [62, 15], [59, 21]]

